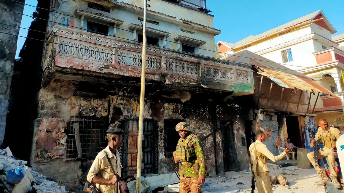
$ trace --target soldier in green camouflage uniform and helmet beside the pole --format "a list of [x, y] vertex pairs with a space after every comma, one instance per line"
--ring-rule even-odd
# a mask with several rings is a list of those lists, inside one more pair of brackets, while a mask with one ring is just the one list
[[175, 130], [180, 136], [173, 152], [174, 162], [179, 163], [180, 193], [201, 193], [207, 168], [202, 142], [196, 134], [190, 132], [186, 122], [178, 123]]

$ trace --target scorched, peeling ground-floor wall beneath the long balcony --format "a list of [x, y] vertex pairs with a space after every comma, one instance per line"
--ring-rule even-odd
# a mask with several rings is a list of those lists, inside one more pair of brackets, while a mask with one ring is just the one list
[[[87, 92], [83, 90], [86, 87]], [[89, 92], [92, 90], [94, 92]], [[47, 88], [40, 90], [38, 97], [39, 116], [34, 126], [32, 165], [45, 175], [53, 175], [61, 184], [73, 186], [77, 185], [76, 182], [84, 183], [92, 159], [68, 156], [68, 129], [71, 127], [72, 117], [108, 117], [109, 127], [123, 128], [126, 120], [138, 120], [139, 91], [138, 86], [99, 86], [71, 80], [52, 80]], [[100, 92], [107, 94], [102, 94], [101, 97]], [[80, 96], [80, 93], [84, 96]], [[88, 96], [85, 93], [88, 93]], [[217, 128], [230, 121], [238, 168], [247, 169], [247, 150], [243, 146], [245, 144], [242, 144], [242, 141], [245, 141], [244, 118], [240, 115], [242, 111], [237, 104], [217, 104], [214, 102], [216, 100], [210, 99], [211, 96], [214, 95], [167, 91], [149, 85], [146, 87], [144, 118], [156, 123], [154, 132], [157, 136], [157, 154], [154, 159], [158, 163], [157, 172], [173, 172], [172, 155], [166, 151], [165, 146], [166, 141], [175, 145], [179, 136], [175, 132], [175, 125], [165, 128], [167, 120], [186, 121], [190, 124], [192, 132], [202, 140], [210, 175], [224, 171], [225, 139], [221, 129]], [[59, 167], [50, 167], [50, 163]], [[61, 171], [68, 171], [68, 174]]]

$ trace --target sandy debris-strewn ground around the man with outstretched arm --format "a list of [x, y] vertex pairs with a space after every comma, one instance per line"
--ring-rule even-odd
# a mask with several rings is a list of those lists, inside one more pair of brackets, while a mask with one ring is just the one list
[[[314, 168], [301, 169], [297, 166], [280, 168], [276, 164], [268, 163], [270, 175], [282, 174], [289, 181], [289, 185], [272, 185], [272, 191], [276, 193], [324, 193], [323, 186], [317, 186], [319, 180]], [[202, 192], [225, 193], [225, 192], [251, 192], [251, 175], [245, 171], [226, 172], [225, 177], [208, 177]], [[255, 193], [257, 189], [255, 190]]]

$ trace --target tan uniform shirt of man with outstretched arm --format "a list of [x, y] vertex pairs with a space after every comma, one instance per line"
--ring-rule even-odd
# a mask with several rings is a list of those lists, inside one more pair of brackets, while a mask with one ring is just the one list
[[[256, 159], [255, 150], [257, 151], [257, 153], [260, 152], [261, 154], [263, 154], [262, 156], [259, 156], [257, 154], [258, 161]], [[282, 154], [280, 154], [278, 156], [274, 156], [268, 150], [266, 145], [264, 145], [259, 140], [256, 140], [255, 143], [252, 143], [250, 145], [249, 151], [250, 151], [250, 158], [252, 159], [252, 164], [253, 164], [252, 168], [253, 168], [254, 173], [257, 173], [257, 168], [258, 168], [258, 172], [268, 172], [269, 171], [268, 166], [266, 165], [266, 157], [269, 158], [271, 161], [276, 162], [278, 160], [281, 160], [284, 156], [287, 155], [286, 152], [283, 151]], [[251, 168], [250, 168], [250, 170], [251, 170]]]

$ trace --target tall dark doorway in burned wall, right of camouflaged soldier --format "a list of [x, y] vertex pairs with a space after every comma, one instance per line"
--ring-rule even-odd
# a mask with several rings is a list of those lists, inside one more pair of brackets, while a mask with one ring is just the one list
[[222, 125], [223, 163], [226, 171], [239, 171], [233, 123]]

